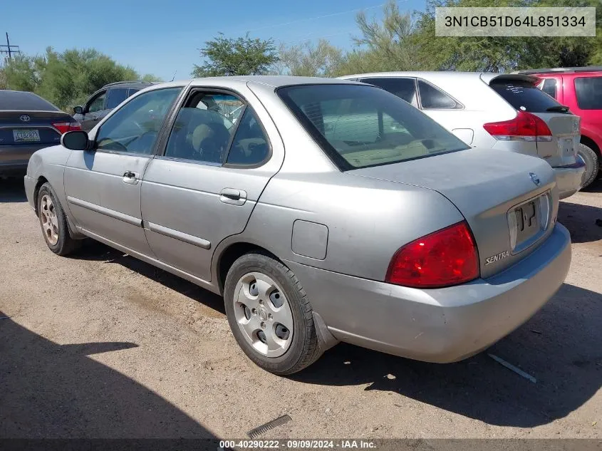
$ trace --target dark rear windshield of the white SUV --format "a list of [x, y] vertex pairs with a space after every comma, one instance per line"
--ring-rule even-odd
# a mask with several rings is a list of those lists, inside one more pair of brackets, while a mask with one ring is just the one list
[[[517, 110], [529, 111], [529, 113], [546, 113], [549, 108], [560, 105], [554, 98], [551, 98], [528, 81], [494, 80], [490, 86]], [[554, 110], [554, 113], [561, 113], [561, 111]]]

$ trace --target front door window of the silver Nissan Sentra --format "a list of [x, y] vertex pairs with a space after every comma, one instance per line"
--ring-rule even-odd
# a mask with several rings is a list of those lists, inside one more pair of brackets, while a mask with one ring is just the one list
[[96, 148], [150, 155], [165, 115], [180, 90], [157, 89], [130, 100], [100, 126]]

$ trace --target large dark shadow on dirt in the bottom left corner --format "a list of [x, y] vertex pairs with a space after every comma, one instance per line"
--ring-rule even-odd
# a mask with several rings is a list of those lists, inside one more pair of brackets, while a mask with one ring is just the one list
[[0, 437], [214, 438], [157, 393], [88, 357], [118, 351], [128, 358], [132, 348], [60, 345], [0, 319]]

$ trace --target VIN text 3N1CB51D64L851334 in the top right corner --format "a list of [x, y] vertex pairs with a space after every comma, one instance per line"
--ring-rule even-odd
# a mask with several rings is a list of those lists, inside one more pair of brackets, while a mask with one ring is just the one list
[[586, 26], [585, 17], [576, 16], [445, 16], [445, 26]]

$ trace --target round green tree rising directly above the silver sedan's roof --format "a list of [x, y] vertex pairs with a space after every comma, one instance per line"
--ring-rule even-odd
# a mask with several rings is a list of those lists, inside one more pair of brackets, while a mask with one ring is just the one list
[[194, 65], [192, 76], [237, 76], [261, 75], [278, 61], [274, 40], [249, 38], [225, 38], [223, 33], [212, 41], [205, 42], [200, 50], [204, 61]]

